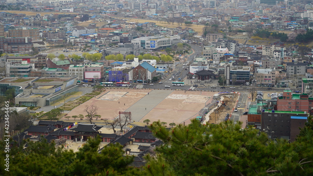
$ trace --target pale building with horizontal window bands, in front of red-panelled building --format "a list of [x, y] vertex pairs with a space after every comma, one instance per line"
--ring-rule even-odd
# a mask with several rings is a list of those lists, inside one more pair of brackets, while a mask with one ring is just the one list
[[11, 62], [6, 62], [6, 71], [8, 77], [29, 77], [31, 70], [35, 69], [33, 63], [27, 63], [27, 61], [22, 61], [22, 63], [12, 64]]

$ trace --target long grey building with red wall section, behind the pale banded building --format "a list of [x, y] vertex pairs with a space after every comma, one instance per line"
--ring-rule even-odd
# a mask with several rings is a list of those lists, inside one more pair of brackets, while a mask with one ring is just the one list
[[42, 66], [46, 66], [47, 54], [37, 54], [35, 56], [6, 57], [6, 62], [11, 62], [12, 64], [21, 64], [22, 61], [27, 61], [27, 63], [33, 63], [35, 68], [40, 68]]

